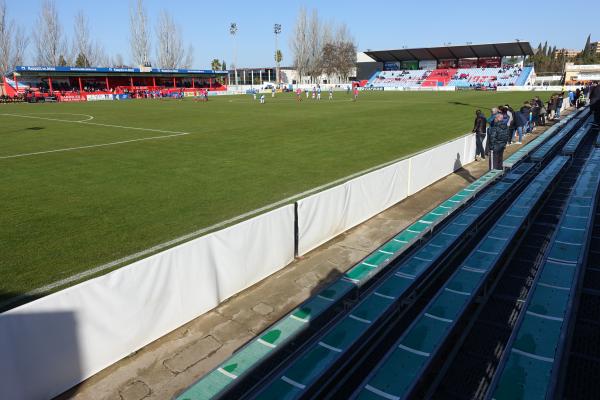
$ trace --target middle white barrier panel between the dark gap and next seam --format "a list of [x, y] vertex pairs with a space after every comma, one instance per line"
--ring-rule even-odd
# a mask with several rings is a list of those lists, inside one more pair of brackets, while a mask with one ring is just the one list
[[299, 200], [298, 255], [406, 198], [408, 160]]

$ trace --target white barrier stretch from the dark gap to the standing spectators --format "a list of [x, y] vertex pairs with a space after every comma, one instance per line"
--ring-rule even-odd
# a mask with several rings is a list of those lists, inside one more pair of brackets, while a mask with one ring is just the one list
[[297, 202], [298, 255], [373, 217], [475, 159], [468, 134]]

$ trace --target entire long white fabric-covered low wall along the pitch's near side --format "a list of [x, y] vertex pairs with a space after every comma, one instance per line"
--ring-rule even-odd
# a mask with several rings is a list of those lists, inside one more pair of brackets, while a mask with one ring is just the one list
[[474, 154], [474, 135], [459, 137], [0, 314], [0, 399], [68, 390]]

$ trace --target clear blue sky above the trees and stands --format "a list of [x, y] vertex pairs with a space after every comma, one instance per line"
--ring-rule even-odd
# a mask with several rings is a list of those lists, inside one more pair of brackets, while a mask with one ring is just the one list
[[[8, 12], [30, 31], [35, 25], [40, 0], [7, 0]], [[73, 16], [83, 10], [93, 36], [110, 54], [121, 53], [129, 61], [129, 0], [58, 0], [59, 14], [67, 34]], [[321, 18], [345, 22], [359, 50], [391, 49], [402, 46], [435, 46], [446, 42], [486, 43], [529, 40], [535, 47], [548, 40], [558, 47], [581, 48], [589, 33], [600, 40], [600, 23], [589, 16], [600, 15], [600, 1], [191, 1], [146, 0], [152, 25], [166, 8], [180, 24], [186, 46], [195, 49], [194, 66], [205, 68], [213, 58], [232, 59], [229, 23], [239, 27], [238, 65], [261, 67], [273, 64], [273, 24], [283, 25], [280, 47], [283, 64], [291, 64], [288, 38], [298, 9], [316, 8]], [[574, 16], [576, 20], [569, 17]], [[151, 39], [155, 41], [154, 32]], [[30, 52], [33, 46], [30, 46]], [[153, 49], [154, 52], [154, 49]], [[29, 58], [31, 61], [31, 57]]]

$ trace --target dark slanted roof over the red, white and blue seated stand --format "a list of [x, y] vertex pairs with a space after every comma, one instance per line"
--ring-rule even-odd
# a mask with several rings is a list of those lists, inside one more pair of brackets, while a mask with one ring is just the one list
[[414, 49], [365, 51], [375, 61], [448, 60], [460, 58], [531, 56], [529, 42], [422, 47]]

